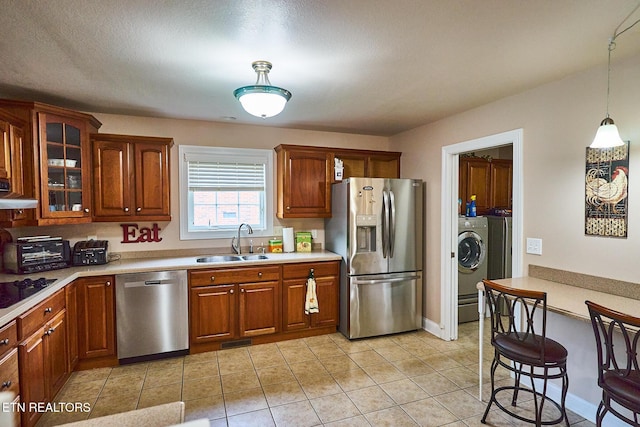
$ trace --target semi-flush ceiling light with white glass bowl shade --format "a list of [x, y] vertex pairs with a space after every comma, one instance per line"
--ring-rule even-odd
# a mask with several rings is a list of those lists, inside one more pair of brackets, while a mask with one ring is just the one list
[[277, 86], [271, 86], [269, 71], [271, 63], [255, 61], [251, 64], [258, 74], [255, 85], [243, 86], [233, 91], [242, 108], [256, 117], [273, 117], [284, 110], [287, 101], [291, 99], [291, 92]]

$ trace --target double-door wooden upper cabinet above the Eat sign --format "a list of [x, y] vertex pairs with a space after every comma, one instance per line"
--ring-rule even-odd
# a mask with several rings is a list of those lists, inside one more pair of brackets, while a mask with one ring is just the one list
[[170, 221], [171, 138], [93, 134], [94, 221]]

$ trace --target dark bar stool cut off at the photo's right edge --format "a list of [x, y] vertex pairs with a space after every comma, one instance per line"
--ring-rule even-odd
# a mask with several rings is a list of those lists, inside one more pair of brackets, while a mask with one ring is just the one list
[[[632, 426], [639, 427], [640, 415], [640, 318], [620, 313], [591, 301], [585, 301], [598, 350], [598, 386], [602, 400], [596, 413], [596, 424], [611, 412]], [[630, 413], [622, 414], [622, 408]], [[630, 416], [633, 415], [633, 419]]]

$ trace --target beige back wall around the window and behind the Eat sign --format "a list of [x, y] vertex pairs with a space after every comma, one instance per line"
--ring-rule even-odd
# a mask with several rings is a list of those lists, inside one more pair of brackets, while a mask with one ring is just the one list
[[[238, 125], [195, 120], [160, 119], [148, 117], [122, 116], [92, 113], [102, 122], [101, 133], [118, 133], [127, 135], [146, 135], [172, 137], [175, 145], [171, 150], [171, 222], [159, 222], [161, 228], [159, 243], [120, 243], [122, 228], [120, 223], [93, 223], [74, 226], [23, 227], [11, 229], [16, 236], [50, 234], [71, 240], [84, 240], [87, 236], [96, 235], [99, 239], [109, 240], [109, 250], [113, 252], [156, 251], [194, 248], [226, 248], [231, 250], [230, 239], [191, 240], [179, 239], [179, 180], [178, 180], [178, 146], [207, 145], [217, 147], [245, 147], [273, 149], [280, 144], [312, 145], [323, 147], [356, 148], [369, 150], [390, 150], [389, 138], [369, 135], [355, 135], [336, 132], [306, 131], [283, 129], [266, 126]], [[275, 174], [275, 151], [274, 151]], [[275, 176], [274, 176], [275, 188]], [[274, 200], [275, 206], [275, 193]], [[275, 209], [274, 209], [275, 211]], [[136, 221], [140, 226], [149, 227], [152, 223]], [[296, 230], [320, 230], [314, 243], [324, 242], [324, 220], [298, 219], [275, 220], [275, 226], [291, 226]], [[265, 239], [266, 240], [266, 239]], [[257, 245], [260, 242], [254, 241]], [[265, 242], [266, 243], [266, 242]]]

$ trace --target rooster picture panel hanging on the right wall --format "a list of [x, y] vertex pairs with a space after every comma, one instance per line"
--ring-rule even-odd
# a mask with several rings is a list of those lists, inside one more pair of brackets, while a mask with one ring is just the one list
[[629, 141], [620, 147], [587, 147], [585, 235], [627, 237]]

